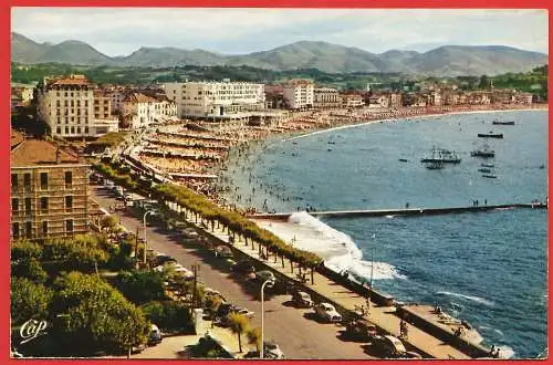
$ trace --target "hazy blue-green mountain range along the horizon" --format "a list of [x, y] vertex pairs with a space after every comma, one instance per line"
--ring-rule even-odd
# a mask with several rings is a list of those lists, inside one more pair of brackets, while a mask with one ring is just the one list
[[547, 55], [504, 45], [442, 45], [428, 52], [390, 50], [371, 53], [326, 42], [301, 41], [269, 51], [225, 55], [205, 50], [140, 48], [111, 58], [85, 42], [38, 43], [11, 33], [11, 60], [18, 63], [171, 67], [184, 65], [247, 65], [273, 71], [319, 69], [328, 73], [401, 72], [427, 75], [495, 75], [525, 72], [547, 64]]

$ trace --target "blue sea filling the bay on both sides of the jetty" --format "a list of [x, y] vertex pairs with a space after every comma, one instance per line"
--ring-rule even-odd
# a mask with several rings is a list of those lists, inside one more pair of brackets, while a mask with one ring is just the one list
[[[220, 184], [241, 207], [294, 212], [289, 223], [316, 240], [291, 244], [330, 268], [372, 278], [398, 301], [440, 305], [502, 357], [534, 358], [547, 346], [546, 209], [321, 220], [309, 211], [545, 201], [547, 118], [547, 111], [467, 113], [273, 136], [231, 150]], [[477, 136], [489, 132], [504, 137]], [[484, 145], [494, 158], [471, 157]], [[434, 148], [455, 150], [461, 163], [426, 168], [420, 159]], [[481, 164], [493, 167], [484, 174]]]

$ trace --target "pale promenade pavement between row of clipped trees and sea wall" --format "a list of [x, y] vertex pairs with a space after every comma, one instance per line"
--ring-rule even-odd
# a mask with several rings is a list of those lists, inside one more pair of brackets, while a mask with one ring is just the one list
[[[194, 222], [192, 217], [187, 217], [187, 221], [195, 225], [197, 228], [206, 230], [201, 228], [199, 225]], [[220, 239], [221, 241], [229, 242], [229, 236], [223, 232], [222, 227], [219, 229], [215, 229], [211, 231], [210, 229], [206, 230], [210, 234]], [[237, 237], [233, 247], [243, 253], [252, 257], [255, 260], [260, 260], [267, 265], [271, 267], [275, 271], [286, 275], [288, 278], [295, 280], [295, 273], [298, 272], [298, 268], [294, 267], [294, 272], [292, 273], [292, 268], [290, 267], [290, 260], [284, 260], [284, 268], [282, 268], [282, 262], [279, 259], [276, 262], [272, 260], [261, 260], [258, 253], [258, 246], [255, 244], [255, 249], [251, 249], [251, 243], [246, 246], [246, 242]], [[307, 274], [307, 278], [310, 275]], [[365, 305], [366, 300], [361, 295], [345, 289], [344, 286], [336, 284], [335, 282], [328, 280], [327, 278], [321, 275], [320, 273], [314, 273], [314, 284], [311, 284], [311, 280], [306, 283], [311, 290], [315, 291], [320, 295], [327, 298], [330, 301], [347, 309], [354, 311], [356, 306]], [[371, 313], [366, 319], [373, 322], [375, 325], [384, 330], [385, 332], [390, 333], [394, 336], [399, 335], [399, 317], [395, 314], [395, 307], [383, 307], [376, 306], [375, 303], [371, 303]], [[441, 340], [436, 338], [435, 336], [421, 331], [420, 328], [407, 324], [408, 326], [408, 340], [404, 341], [416, 348], [419, 348], [424, 353], [435, 357], [442, 359], [469, 359], [470, 356], [460, 352], [459, 350], [452, 347], [449, 344], [444, 343]]]

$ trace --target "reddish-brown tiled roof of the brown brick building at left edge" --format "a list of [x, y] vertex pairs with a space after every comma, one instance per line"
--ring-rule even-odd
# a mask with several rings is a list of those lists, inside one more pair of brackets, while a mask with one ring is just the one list
[[58, 153], [60, 155], [60, 164], [79, 163], [77, 156], [50, 142], [42, 139], [25, 139], [11, 150], [11, 166], [56, 165]]

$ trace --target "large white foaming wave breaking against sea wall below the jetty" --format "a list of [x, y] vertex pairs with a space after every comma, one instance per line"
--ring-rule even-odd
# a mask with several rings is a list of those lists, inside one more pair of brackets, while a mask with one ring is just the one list
[[374, 280], [406, 279], [396, 268], [387, 262], [371, 262], [363, 260], [363, 252], [349, 236], [323, 223], [305, 211], [294, 212], [289, 222], [309, 229], [310, 236], [294, 240], [294, 246], [319, 254], [325, 265], [336, 272], [347, 270], [356, 279]]

